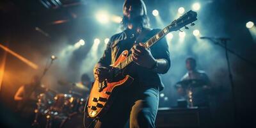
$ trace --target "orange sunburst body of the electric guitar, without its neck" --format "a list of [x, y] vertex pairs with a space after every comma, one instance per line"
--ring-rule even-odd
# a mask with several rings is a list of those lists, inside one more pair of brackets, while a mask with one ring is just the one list
[[[128, 51], [122, 52], [116, 62], [111, 66], [115, 67], [118, 65], [120, 62], [125, 60], [125, 58], [127, 58], [127, 55]], [[111, 83], [109, 83], [107, 80], [103, 81], [102, 83], [95, 80], [85, 106], [86, 116], [88, 118], [100, 118], [111, 106], [111, 102], [113, 101], [113, 90], [119, 86], [129, 85], [132, 83], [132, 81], [133, 78], [129, 75], [115, 77]], [[99, 86], [101, 86], [101, 89], [99, 89]]]

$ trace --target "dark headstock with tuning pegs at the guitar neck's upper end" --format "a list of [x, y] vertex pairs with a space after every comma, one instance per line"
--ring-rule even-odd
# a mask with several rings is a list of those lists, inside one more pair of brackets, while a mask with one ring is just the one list
[[186, 25], [191, 24], [191, 26], [194, 26], [195, 24], [193, 23], [196, 19], [197, 13], [193, 11], [189, 11], [179, 17], [179, 19], [174, 20], [167, 28], [169, 31], [177, 31], [180, 28], [185, 27], [185, 29], [188, 29]]

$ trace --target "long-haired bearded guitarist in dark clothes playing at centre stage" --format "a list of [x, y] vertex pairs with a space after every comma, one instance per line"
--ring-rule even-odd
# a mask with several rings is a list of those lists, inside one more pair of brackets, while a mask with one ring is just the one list
[[111, 108], [96, 122], [95, 127], [124, 127], [128, 119], [130, 127], [155, 127], [159, 91], [164, 87], [159, 74], [165, 74], [170, 68], [168, 44], [165, 40], [159, 40], [150, 49], [145, 49], [139, 43], [147, 41], [160, 30], [148, 28], [143, 0], [125, 0], [123, 14], [124, 31], [111, 37], [93, 72], [99, 81], [112, 81], [113, 70], [109, 65], [116, 61], [122, 51], [129, 50], [133, 62], [124, 70], [124, 74], [129, 74], [134, 81], [118, 90]]

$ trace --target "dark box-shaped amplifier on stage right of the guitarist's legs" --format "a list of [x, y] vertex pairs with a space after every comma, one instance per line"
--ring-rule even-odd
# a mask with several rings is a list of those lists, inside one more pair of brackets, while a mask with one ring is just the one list
[[159, 108], [157, 128], [203, 128], [211, 127], [211, 115], [207, 108]]

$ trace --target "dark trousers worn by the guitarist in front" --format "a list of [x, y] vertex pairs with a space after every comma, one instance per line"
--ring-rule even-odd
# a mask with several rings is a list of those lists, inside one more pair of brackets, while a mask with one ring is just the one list
[[129, 127], [155, 127], [159, 104], [159, 87], [142, 87], [132, 84], [118, 91], [111, 108], [95, 128], [124, 127], [129, 119]]

